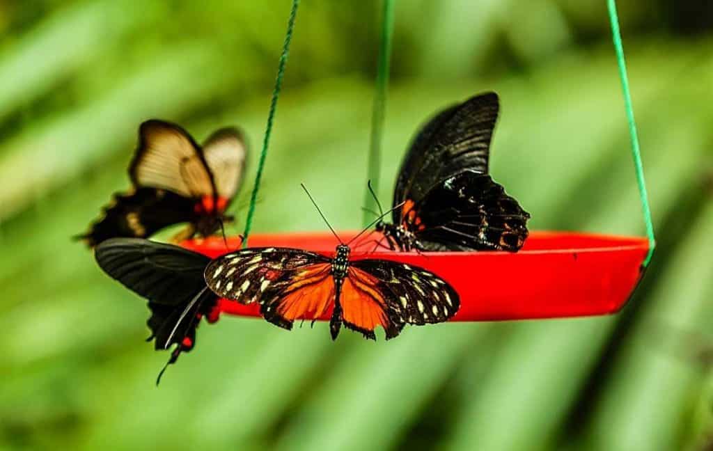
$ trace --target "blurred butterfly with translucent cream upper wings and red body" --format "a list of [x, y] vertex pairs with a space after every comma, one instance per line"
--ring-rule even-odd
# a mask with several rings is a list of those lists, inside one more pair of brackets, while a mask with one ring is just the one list
[[217, 232], [242, 181], [247, 147], [242, 133], [222, 128], [199, 146], [179, 125], [148, 120], [129, 166], [133, 189], [117, 194], [103, 217], [79, 236], [90, 247], [112, 237], [149, 237], [188, 222], [177, 240]]

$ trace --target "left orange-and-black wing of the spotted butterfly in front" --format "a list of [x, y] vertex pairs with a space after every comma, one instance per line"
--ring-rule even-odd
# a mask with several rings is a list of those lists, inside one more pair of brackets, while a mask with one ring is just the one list
[[242, 249], [205, 268], [205, 283], [218, 296], [260, 304], [267, 321], [292, 328], [299, 318], [316, 319], [334, 303], [332, 261], [300, 249]]

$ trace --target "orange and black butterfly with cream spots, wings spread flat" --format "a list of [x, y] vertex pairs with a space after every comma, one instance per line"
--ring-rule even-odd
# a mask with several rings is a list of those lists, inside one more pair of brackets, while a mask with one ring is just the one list
[[241, 304], [260, 304], [270, 323], [291, 329], [295, 320], [329, 314], [336, 339], [342, 324], [376, 339], [381, 326], [386, 339], [406, 324], [441, 323], [458, 311], [458, 294], [425, 269], [396, 261], [349, 259], [339, 244], [334, 258], [301, 249], [242, 249], [208, 264], [205, 281], [215, 294]]

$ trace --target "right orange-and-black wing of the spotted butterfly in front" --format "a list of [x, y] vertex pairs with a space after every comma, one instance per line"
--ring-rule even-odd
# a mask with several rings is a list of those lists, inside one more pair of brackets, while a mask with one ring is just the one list
[[460, 308], [458, 293], [436, 274], [396, 261], [353, 261], [349, 281], [356, 294], [344, 289], [340, 299], [344, 325], [374, 338], [384, 327], [386, 339], [401, 333], [406, 324], [441, 323]]

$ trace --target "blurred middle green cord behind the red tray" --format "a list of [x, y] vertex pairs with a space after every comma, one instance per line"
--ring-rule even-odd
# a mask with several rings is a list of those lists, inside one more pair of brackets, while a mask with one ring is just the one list
[[[379, 192], [381, 177], [381, 136], [384, 131], [384, 111], [386, 110], [386, 87], [389, 85], [389, 63], [391, 61], [391, 38], [394, 36], [394, 1], [384, 0], [381, 18], [381, 46], [379, 47], [379, 66], [376, 69], [374, 86], [374, 108], [371, 112], [371, 138], [369, 140], [368, 180], [374, 192]], [[367, 189], [364, 193], [364, 207], [374, 210], [374, 198]], [[371, 224], [369, 212], [364, 210], [364, 227]]]

